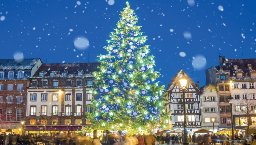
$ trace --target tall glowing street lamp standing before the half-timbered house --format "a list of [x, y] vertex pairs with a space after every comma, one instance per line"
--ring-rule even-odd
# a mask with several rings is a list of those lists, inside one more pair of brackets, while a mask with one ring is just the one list
[[187, 117], [186, 117], [186, 100], [185, 100], [185, 90], [187, 86], [187, 80], [185, 78], [180, 79], [180, 84], [182, 86], [182, 97], [183, 97], [183, 115], [184, 115], [184, 141], [183, 145], [189, 145], [187, 138]]

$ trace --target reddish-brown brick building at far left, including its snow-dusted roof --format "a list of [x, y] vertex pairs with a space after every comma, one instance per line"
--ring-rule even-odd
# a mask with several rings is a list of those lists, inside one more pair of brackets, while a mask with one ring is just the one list
[[22, 133], [26, 118], [27, 87], [30, 77], [41, 66], [40, 58], [0, 59], [1, 133]]

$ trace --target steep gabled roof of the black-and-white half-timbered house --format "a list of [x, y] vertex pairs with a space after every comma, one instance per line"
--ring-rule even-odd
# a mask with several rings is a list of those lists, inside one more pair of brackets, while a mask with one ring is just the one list
[[[181, 78], [186, 78], [187, 82], [192, 82], [194, 84], [194, 82], [190, 79], [190, 77], [183, 71], [183, 69], [181, 69], [172, 78], [172, 81], [168, 84], [166, 91], [170, 91], [171, 89], [173, 89], [173, 87], [176, 85], [176, 82], [179, 81], [179, 79], [181, 79]], [[196, 89], [196, 91], [199, 91], [199, 89], [197, 87], [195, 87], [195, 89]]]

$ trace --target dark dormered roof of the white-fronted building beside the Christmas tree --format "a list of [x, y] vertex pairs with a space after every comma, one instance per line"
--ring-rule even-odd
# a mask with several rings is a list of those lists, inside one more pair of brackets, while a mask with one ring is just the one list
[[[43, 63], [31, 78], [56, 78], [56, 77], [94, 77], [92, 72], [99, 71], [99, 62], [94, 63]], [[51, 73], [54, 76], [50, 76]], [[62, 73], [67, 73], [67, 76], [62, 76]], [[78, 72], [83, 75], [79, 76]], [[44, 73], [44, 76], [39, 76], [39, 73]]]

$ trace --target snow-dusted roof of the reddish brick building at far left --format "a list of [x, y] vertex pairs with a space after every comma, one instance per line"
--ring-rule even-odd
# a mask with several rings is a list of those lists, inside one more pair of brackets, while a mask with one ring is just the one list
[[39, 59], [0, 59], [0, 70], [30, 70]]

